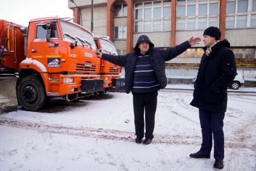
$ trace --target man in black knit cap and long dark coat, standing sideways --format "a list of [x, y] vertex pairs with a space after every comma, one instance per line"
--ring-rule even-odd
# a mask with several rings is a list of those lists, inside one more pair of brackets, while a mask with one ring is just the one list
[[227, 88], [236, 76], [236, 60], [228, 40], [220, 41], [220, 30], [210, 26], [204, 31], [205, 53], [202, 55], [194, 83], [190, 105], [199, 108], [202, 129], [201, 149], [190, 154], [192, 158], [210, 158], [214, 139], [214, 168], [223, 169], [223, 119], [227, 104]]

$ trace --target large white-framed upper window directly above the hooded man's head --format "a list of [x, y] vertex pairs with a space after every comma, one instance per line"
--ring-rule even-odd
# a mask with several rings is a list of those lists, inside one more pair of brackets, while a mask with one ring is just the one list
[[134, 4], [134, 31], [170, 31], [170, 0], [137, 2]]

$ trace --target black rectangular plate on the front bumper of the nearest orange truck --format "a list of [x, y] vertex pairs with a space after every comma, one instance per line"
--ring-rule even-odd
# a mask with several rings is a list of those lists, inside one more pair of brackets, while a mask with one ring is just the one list
[[104, 91], [103, 79], [81, 79], [81, 89], [83, 94]]

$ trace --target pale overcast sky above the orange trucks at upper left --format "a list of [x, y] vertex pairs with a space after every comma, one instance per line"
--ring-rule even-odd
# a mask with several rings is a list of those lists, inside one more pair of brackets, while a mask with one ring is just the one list
[[68, 0], [0, 0], [0, 19], [28, 26], [31, 19], [39, 17], [73, 17], [67, 8]]

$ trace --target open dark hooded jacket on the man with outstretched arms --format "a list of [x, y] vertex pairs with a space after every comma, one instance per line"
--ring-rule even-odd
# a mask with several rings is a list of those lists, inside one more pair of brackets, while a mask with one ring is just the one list
[[[115, 56], [115, 55], [109, 55], [109, 54], [102, 54], [102, 59], [110, 61], [111, 63], [117, 64], [119, 66], [125, 67], [125, 92], [126, 93], [130, 93], [131, 86], [133, 84], [134, 69], [136, 66], [137, 57], [140, 54], [138, 45], [141, 42], [149, 42], [150, 40], [149, 41], [148, 40], [145, 41], [145, 40], [138, 39], [135, 47], [136, 51], [126, 55]], [[168, 48], [168, 49], [153, 48], [154, 44], [151, 42], [149, 42], [149, 46], [150, 46], [149, 60], [154, 69], [155, 76], [157, 77], [158, 83], [160, 84], [160, 89], [164, 89], [164, 87], [166, 87], [166, 84], [167, 84], [167, 78], [165, 73], [165, 61], [169, 61], [172, 58], [175, 58], [176, 56], [182, 54], [184, 51], [190, 48], [189, 42], [186, 41], [184, 43], [181, 43], [181, 45], [175, 46], [174, 48]]]

